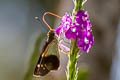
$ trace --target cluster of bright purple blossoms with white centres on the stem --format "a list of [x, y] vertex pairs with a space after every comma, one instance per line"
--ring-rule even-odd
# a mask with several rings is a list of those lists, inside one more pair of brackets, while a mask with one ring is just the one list
[[[74, 22], [72, 18], [75, 18]], [[88, 13], [80, 10], [75, 14], [75, 17], [65, 13], [60, 26], [57, 27], [55, 31], [57, 35], [64, 34], [67, 39], [76, 39], [77, 46], [80, 50], [88, 53], [94, 42], [91, 27], [92, 25], [88, 19]]]

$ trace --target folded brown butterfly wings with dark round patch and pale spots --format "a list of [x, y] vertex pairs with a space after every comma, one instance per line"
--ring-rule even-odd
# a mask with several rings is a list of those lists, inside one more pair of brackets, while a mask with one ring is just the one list
[[58, 40], [57, 36], [54, 35], [51, 41], [48, 38], [48, 42], [45, 43], [33, 76], [44, 76], [51, 70], [57, 70], [59, 63]]

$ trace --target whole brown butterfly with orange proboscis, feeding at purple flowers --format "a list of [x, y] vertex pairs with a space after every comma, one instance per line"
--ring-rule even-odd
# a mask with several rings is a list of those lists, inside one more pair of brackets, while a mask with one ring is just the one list
[[[40, 57], [38, 59], [38, 62], [35, 66], [33, 76], [34, 77], [40, 77], [45, 76], [50, 71], [57, 70], [60, 66], [60, 55], [59, 55], [59, 49], [58, 49], [58, 36], [56, 35], [56, 32], [47, 24], [45, 21], [45, 15], [51, 14], [53, 16], [56, 16], [58, 18], [61, 18], [60, 16], [51, 13], [51, 12], [45, 12], [42, 20], [47, 25], [47, 27], [50, 29], [48, 32], [47, 41], [45, 42]], [[38, 17], [36, 17], [37, 20], [39, 20]]]

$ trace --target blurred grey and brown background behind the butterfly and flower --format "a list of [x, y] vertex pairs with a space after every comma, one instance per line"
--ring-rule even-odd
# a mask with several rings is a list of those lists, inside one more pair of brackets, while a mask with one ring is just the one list
[[[36, 40], [48, 32], [34, 17], [41, 18], [46, 11], [63, 16], [72, 9], [72, 0], [0, 0], [0, 80], [24, 80]], [[93, 25], [95, 42], [78, 65], [87, 69], [86, 80], [120, 80], [120, 0], [88, 0], [84, 9]], [[47, 22], [59, 26], [59, 19], [53, 16], [47, 16]], [[61, 68], [37, 80], [66, 80], [68, 58], [60, 55]]]

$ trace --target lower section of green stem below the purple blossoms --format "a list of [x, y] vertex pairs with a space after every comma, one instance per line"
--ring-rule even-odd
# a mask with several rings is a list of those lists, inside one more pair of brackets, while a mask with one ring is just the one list
[[71, 50], [70, 54], [68, 55], [68, 73], [67, 73], [67, 80], [74, 80], [76, 76], [76, 60], [77, 60], [77, 53], [79, 49], [76, 46], [76, 40], [71, 40]]

